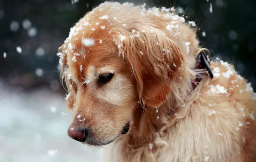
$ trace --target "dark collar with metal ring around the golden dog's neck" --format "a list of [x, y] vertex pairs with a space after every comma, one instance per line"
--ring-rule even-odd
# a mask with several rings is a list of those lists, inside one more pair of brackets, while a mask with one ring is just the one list
[[[212, 74], [212, 71], [210, 69], [211, 64], [210, 64], [209, 58], [205, 54], [206, 52], [208, 53], [208, 56], [210, 56], [210, 51], [207, 50], [207, 49], [201, 49], [199, 51], [199, 54], [196, 57], [195, 69], [206, 69], [206, 71], [208, 72], [208, 75], [212, 79], [213, 74]], [[202, 76], [195, 75], [195, 79], [194, 79], [194, 81], [192, 81], [193, 90], [200, 83], [201, 80], [202, 80]]]

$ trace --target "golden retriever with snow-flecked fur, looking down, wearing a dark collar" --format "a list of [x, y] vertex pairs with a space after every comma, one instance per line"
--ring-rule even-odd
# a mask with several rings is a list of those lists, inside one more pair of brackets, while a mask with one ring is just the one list
[[256, 93], [174, 8], [105, 2], [60, 47], [68, 136], [108, 162], [255, 162]]

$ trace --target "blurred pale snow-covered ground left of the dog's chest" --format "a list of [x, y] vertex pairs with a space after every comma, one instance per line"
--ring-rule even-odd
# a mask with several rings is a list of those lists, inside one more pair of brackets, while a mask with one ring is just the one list
[[0, 162], [100, 162], [99, 149], [67, 136], [72, 112], [64, 97], [0, 84]]

